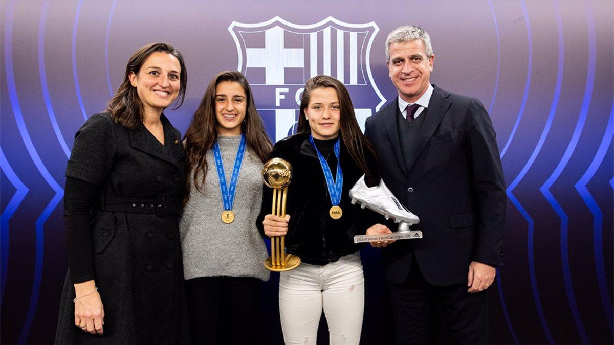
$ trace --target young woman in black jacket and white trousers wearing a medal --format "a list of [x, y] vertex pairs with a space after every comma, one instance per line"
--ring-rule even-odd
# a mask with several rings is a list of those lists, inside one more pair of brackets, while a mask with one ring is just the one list
[[367, 185], [378, 184], [379, 171], [343, 83], [329, 76], [307, 81], [298, 134], [279, 141], [270, 157], [292, 165], [287, 215], [266, 214], [272, 202], [272, 190], [266, 188], [258, 226], [267, 236], [286, 235], [286, 252], [301, 259], [298, 268], [282, 272], [279, 279], [284, 340], [316, 344], [324, 309], [330, 343], [358, 344], [364, 278], [362, 246], [353, 237], [383, 225], [374, 225], [378, 215], [352, 205], [348, 196], [363, 174]]

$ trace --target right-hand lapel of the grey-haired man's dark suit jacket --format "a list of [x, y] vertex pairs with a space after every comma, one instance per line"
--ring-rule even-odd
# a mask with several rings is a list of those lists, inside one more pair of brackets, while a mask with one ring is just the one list
[[437, 130], [443, 115], [446, 114], [450, 104], [452, 104], [446, 99], [448, 93], [445, 93], [445, 91], [435, 85], [433, 85], [433, 88], [435, 88], [435, 90], [433, 90], [433, 95], [430, 96], [429, 109], [427, 110], [426, 118], [424, 118], [424, 123], [422, 124], [422, 130], [418, 136], [416, 152], [414, 153], [413, 161], [408, 164], [408, 169], [410, 170], [414, 166], [414, 163], [416, 163], [416, 160], [418, 160], [418, 157], [420, 157], [422, 150], [426, 147], [427, 142], [430, 141], [435, 130]]

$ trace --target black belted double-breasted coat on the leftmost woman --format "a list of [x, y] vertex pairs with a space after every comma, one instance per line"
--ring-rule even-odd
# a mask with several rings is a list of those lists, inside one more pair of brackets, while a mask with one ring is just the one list
[[128, 130], [108, 113], [77, 131], [66, 177], [99, 185], [91, 212], [94, 270], [104, 304], [104, 335], [74, 323], [66, 277], [57, 344], [189, 342], [177, 215], [184, 195], [181, 136], [161, 116], [165, 145], [145, 126]]

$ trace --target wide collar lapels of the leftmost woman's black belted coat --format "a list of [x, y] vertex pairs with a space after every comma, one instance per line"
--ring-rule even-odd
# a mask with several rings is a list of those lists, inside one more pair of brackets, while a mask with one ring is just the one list
[[[160, 158], [161, 160], [168, 161], [169, 163], [178, 167], [178, 157], [174, 155], [173, 151], [176, 150], [175, 146], [181, 145], [181, 141], [178, 141], [178, 144], [175, 144], [175, 141], [178, 139], [175, 138], [173, 134], [173, 129], [171, 128], [171, 125], [168, 120], [166, 120], [166, 117], [164, 117], [164, 115], [162, 116], [163, 118], [161, 118], [161, 121], [163, 125], [166, 145], [162, 145], [153, 136], [153, 134], [149, 133], [147, 128], [145, 128], [145, 125], [141, 125], [136, 130], [130, 131], [130, 146], [133, 147], [133, 149], [135, 150], [139, 150], [154, 157]], [[167, 149], [165, 146], [169, 147], [169, 149]], [[182, 148], [179, 147], [178, 149]], [[169, 153], [173, 153], [173, 155], [171, 156]]]

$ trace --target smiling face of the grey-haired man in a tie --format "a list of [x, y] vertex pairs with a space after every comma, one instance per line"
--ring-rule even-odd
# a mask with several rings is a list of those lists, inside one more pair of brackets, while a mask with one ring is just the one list
[[408, 103], [418, 101], [429, 88], [435, 55], [427, 58], [421, 39], [393, 43], [389, 52], [388, 76], [397, 87], [398, 95]]

